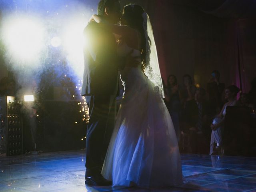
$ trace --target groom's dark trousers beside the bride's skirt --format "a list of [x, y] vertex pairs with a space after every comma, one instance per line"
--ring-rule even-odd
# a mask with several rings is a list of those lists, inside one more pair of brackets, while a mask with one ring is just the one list
[[86, 96], [86, 177], [100, 174], [116, 120], [116, 96]]

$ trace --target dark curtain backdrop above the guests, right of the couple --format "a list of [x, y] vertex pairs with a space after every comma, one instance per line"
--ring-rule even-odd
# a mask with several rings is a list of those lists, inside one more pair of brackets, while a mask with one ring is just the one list
[[226, 86], [250, 90], [256, 76], [256, 0], [121, 0], [148, 12], [160, 70], [178, 78], [190, 74], [203, 88], [212, 70]]

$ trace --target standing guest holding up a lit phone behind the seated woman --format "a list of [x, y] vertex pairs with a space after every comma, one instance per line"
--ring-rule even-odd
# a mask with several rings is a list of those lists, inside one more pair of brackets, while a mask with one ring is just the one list
[[220, 72], [214, 70], [207, 84], [207, 93], [209, 102], [211, 103], [212, 108], [216, 109], [216, 112], [219, 112], [222, 108], [222, 93], [224, 88], [225, 84], [220, 83]]

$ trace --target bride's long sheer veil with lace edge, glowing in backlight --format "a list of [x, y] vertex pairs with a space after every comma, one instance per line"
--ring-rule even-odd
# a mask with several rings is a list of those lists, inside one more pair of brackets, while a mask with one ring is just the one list
[[[146, 12], [142, 14], [144, 18], [144, 31], [146, 36], [146, 69], [145, 74], [154, 83], [155, 91], [164, 98], [164, 88], [159, 68], [158, 56], [156, 51], [156, 43], [154, 33], [149, 16]], [[148, 39], [149, 38], [149, 39]], [[150, 43], [151, 42], [151, 43]]]

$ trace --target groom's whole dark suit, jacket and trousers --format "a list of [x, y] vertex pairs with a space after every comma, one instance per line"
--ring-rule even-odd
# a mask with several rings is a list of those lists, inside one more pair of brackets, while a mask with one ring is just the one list
[[89, 105], [86, 137], [86, 177], [101, 172], [116, 118], [118, 65], [116, 39], [106, 25], [90, 22], [84, 29], [82, 95]]

